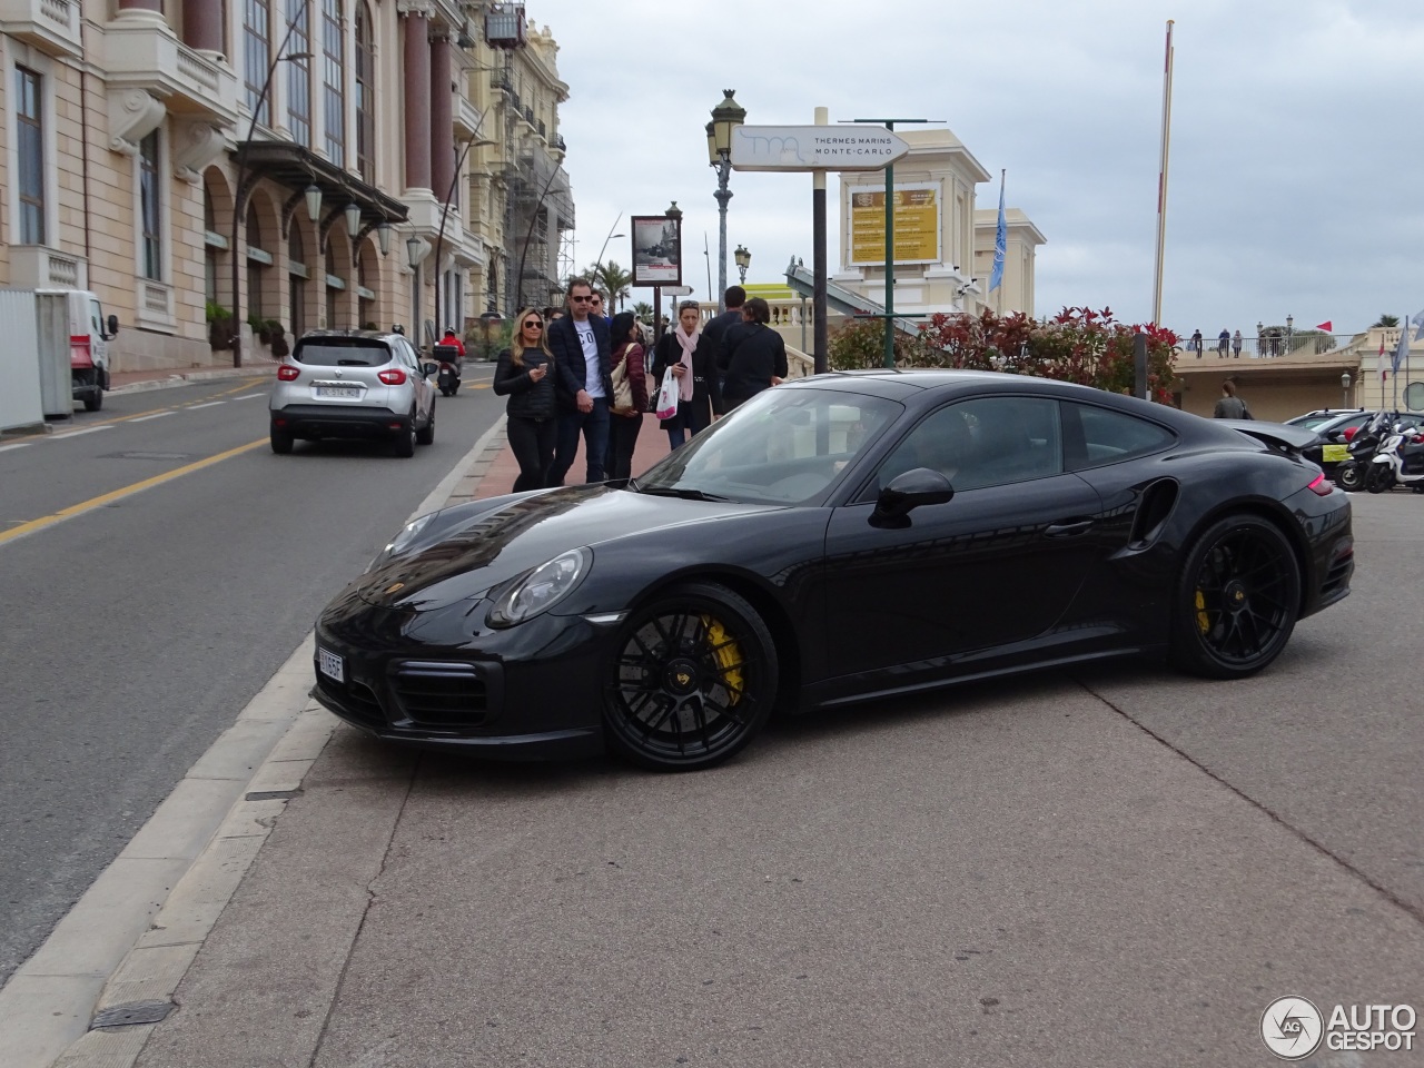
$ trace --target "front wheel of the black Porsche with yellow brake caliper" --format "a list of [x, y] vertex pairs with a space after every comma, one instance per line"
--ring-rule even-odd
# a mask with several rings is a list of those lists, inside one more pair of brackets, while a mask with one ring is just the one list
[[604, 702], [614, 748], [646, 768], [692, 770], [756, 736], [776, 696], [776, 648], [756, 609], [692, 582], [625, 627]]

